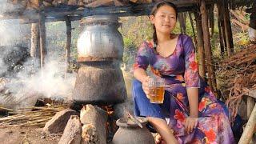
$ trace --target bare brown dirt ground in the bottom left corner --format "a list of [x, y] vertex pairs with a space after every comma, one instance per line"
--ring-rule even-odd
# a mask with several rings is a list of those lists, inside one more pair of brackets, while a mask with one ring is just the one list
[[1, 144], [57, 144], [62, 134], [44, 134], [36, 126], [2, 128], [0, 126]]

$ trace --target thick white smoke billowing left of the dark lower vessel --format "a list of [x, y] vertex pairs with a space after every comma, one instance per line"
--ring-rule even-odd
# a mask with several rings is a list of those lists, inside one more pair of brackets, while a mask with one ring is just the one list
[[28, 60], [22, 70], [6, 84], [6, 89], [12, 94], [12, 98], [2, 99], [6, 107], [14, 106], [17, 109], [34, 106], [38, 98], [62, 102], [70, 100], [75, 74], [66, 74], [65, 64], [53, 58], [46, 60], [42, 70], [38, 70], [36, 63], [33, 59]]

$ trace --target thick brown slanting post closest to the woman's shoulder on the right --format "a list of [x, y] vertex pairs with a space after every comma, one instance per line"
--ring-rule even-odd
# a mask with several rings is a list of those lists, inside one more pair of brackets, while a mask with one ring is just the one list
[[198, 63], [199, 63], [199, 74], [205, 79], [206, 78], [206, 65], [205, 65], [205, 53], [204, 53], [204, 44], [202, 38], [202, 18], [198, 14], [199, 11], [194, 12], [196, 28], [197, 28], [197, 38], [198, 38]]

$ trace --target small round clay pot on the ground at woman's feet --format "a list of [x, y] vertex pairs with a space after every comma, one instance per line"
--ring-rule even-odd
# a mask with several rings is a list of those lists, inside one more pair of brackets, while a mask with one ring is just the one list
[[114, 134], [112, 144], [154, 144], [154, 137], [146, 128], [147, 118], [136, 117], [142, 123], [140, 128], [134, 122], [127, 121], [127, 118], [120, 118], [116, 122], [119, 126]]

